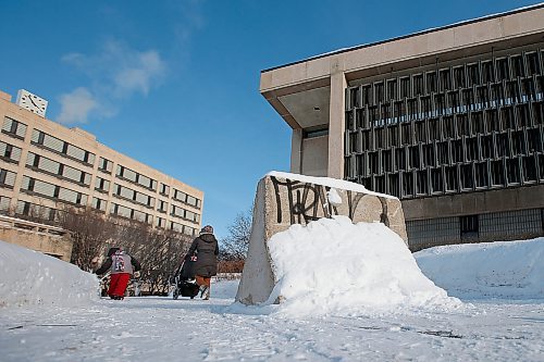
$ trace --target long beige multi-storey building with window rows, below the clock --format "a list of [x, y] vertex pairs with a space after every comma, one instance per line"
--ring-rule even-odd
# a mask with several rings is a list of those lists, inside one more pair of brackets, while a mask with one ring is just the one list
[[[47, 104], [47, 103], [46, 103]], [[44, 108], [45, 109], [45, 108]], [[54, 221], [65, 207], [194, 236], [203, 192], [11, 102], [0, 91], [0, 211]]]

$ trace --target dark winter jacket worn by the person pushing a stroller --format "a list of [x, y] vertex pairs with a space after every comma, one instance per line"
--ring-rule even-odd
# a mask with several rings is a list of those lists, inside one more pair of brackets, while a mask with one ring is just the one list
[[194, 265], [195, 274], [203, 277], [217, 275], [219, 245], [213, 234], [202, 234], [195, 238], [187, 254], [193, 255], [195, 252], [197, 255]]

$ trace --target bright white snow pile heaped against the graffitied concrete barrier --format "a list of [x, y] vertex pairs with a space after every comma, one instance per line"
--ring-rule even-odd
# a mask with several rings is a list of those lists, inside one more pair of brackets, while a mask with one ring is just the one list
[[354, 315], [462, 304], [428, 279], [403, 239], [381, 223], [321, 219], [292, 225], [268, 246], [279, 282], [264, 304], [280, 298], [280, 313]]

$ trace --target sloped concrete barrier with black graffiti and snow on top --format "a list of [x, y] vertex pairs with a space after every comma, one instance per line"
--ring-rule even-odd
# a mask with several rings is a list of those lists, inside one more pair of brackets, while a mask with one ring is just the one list
[[288, 173], [268, 174], [257, 186], [248, 255], [236, 301], [265, 301], [276, 284], [267, 242], [293, 224], [306, 225], [321, 217], [344, 215], [358, 222], [381, 222], [408, 247], [400, 201], [367, 190], [359, 184]]

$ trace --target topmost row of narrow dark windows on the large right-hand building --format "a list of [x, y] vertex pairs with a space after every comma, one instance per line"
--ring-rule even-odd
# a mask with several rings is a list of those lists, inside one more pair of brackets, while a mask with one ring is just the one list
[[530, 51], [380, 79], [349, 88], [348, 102], [353, 107], [361, 108], [432, 92], [535, 77], [543, 73], [543, 52], [544, 50]]

